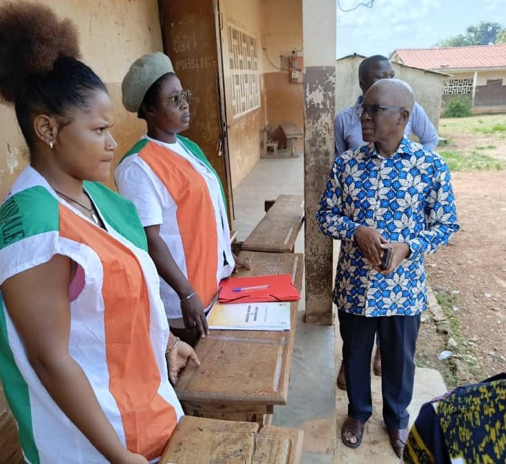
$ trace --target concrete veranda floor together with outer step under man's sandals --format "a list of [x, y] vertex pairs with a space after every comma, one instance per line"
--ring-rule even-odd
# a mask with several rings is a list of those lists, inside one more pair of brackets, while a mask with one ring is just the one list
[[[264, 200], [281, 194], [301, 194], [303, 158], [262, 159], [233, 191], [237, 240], [243, 241], [264, 217]], [[322, 186], [323, 191], [323, 186]], [[334, 247], [337, 259], [338, 247]], [[304, 253], [304, 229], [295, 252]], [[304, 430], [302, 464], [398, 463], [382, 424], [381, 378], [372, 374], [374, 411], [368, 421], [362, 445], [351, 450], [342, 444], [340, 428], [347, 412], [346, 392], [335, 386], [336, 366], [341, 361], [341, 339], [335, 327], [306, 325], [304, 285], [289, 387], [288, 405], [275, 407], [273, 425]], [[442, 376], [434, 369], [416, 369], [411, 421], [422, 403], [446, 391]]]

